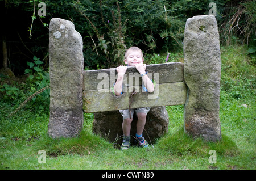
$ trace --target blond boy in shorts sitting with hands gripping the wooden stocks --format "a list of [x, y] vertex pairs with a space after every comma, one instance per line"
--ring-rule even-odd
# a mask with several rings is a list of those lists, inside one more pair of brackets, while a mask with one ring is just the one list
[[[143, 64], [144, 58], [142, 50], [138, 47], [130, 47], [125, 52], [125, 64], [127, 66], [134, 66], [138, 71], [139, 74], [142, 77], [143, 81], [143, 88], [147, 92], [153, 92], [154, 91], [154, 84], [150, 78], [148, 78], [146, 74], [146, 64]], [[119, 66], [117, 67], [117, 82], [115, 82], [114, 85], [114, 94], [119, 96], [122, 94], [122, 83], [123, 83], [123, 76], [127, 70], [127, 66]], [[146, 89], [145, 89], [146, 88]], [[142, 132], [144, 129], [144, 125], [146, 123], [146, 116], [150, 108], [137, 108], [137, 109], [131, 109], [131, 118], [129, 116], [129, 110], [120, 110], [119, 112], [123, 116], [123, 143], [121, 146], [121, 150], [126, 150], [130, 148], [130, 131], [131, 131], [131, 121], [133, 121], [133, 113], [136, 111], [138, 121], [137, 121], [137, 132], [136, 132], [136, 139], [135, 142], [138, 146], [141, 147], [147, 147], [148, 143], [142, 137]]]

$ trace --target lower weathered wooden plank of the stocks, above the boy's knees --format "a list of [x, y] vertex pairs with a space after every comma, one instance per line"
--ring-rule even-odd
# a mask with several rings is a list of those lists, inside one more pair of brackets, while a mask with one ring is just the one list
[[[141, 86], [137, 86], [141, 89]], [[102, 90], [101, 90], [102, 91]], [[115, 96], [109, 89], [83, 91], [84, 112], [104, 112], [129, 108], [130, 92]], [[138, 92], [133, 95], [132, 108], [156, 107], [185, 104], [187, 86], [185, 82], [162, 83], [156, 85], [152, 93]]]

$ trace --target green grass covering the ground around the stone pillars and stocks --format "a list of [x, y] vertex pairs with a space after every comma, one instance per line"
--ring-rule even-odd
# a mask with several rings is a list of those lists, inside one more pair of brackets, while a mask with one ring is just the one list
[[[149, 149], [126, 151], [92, 133], [84, 113], [80, 137], [47, 136], [49, 113], [26, 107], [6, 118], [13, 103], [0, 101], [0, 169], [246, 169], [255, 167], [255, 67], [244, 47], [222, 47], [220, 120], [222, 140], [192, 139], [183, 131], [183, 106], [167, 106], [168, 133]], [[46, 151], [40, 164], [39, 150]], [[209, 163], [210, 150], [216, 163]]]

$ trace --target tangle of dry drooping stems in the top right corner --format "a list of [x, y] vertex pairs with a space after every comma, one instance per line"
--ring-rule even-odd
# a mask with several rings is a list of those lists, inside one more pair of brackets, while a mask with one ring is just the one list
[[228, 6], [232, 6], [225, 9], [225, 18], [220, 19], [218, 26], [223, 44], [242, 43], [255, 47], [255, 3], [255, 0], [228, 2]]

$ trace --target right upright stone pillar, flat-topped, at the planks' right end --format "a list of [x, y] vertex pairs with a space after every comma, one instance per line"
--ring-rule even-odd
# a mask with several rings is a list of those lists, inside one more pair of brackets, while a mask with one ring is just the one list
[[184, 31], [184, 79], [188, 86], [184, 131], [207, 141], [221, 139], [220, 41], [213, 15], [187, 19]]

